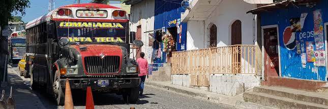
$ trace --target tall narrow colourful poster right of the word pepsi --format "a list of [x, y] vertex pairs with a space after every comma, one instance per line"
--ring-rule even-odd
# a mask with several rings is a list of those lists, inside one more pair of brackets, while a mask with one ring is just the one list
[[314, 42], [316, 50], [324, 50], [324, 39], [323, 39], [323, 22], [321, 17], [321, 10], [313, 11], [313, 22], [314, 22]]

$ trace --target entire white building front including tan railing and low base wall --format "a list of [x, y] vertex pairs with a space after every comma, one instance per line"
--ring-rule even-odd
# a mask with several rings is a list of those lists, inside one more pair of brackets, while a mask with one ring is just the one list
[[230, 96], [259, 85], [259, 20], [246, 12], [272, 1], [189, 2], [181, 15], [188, 23], [187, 51], [173, 54], [172, 83]]

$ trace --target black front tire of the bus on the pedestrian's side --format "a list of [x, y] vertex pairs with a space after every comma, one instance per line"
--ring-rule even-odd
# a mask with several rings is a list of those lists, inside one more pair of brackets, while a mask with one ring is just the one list
[[137, 103], [139, 99], [139, 87], [127, 88], [123, 93], [123, 100], [126, 103]]

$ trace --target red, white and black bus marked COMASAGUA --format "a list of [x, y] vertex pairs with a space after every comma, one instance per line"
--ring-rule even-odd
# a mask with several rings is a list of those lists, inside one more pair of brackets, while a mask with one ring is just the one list
[[26, 71], [32, 88], [45, 89], [63, 105], [69, 78], [72, 89], [91, 86], [136, 102], [140, 78], [129, 58], [129, 39], [127, 13], [109, 5], [67, 5], [28, 22]]

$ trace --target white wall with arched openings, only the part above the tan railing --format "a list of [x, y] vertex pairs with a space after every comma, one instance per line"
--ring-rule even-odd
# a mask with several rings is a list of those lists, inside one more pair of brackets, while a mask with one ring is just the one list
[[[182, 15], [185, 17], [183, 22], [188, 22], [188, 50], [255, 44], [257, 18], [246, 12], [256, 8], [256, 4], [241, 0], [193, 0], [191, 4], [191, 10]], [[211, 27], [214, 33], [211, 33]]]

